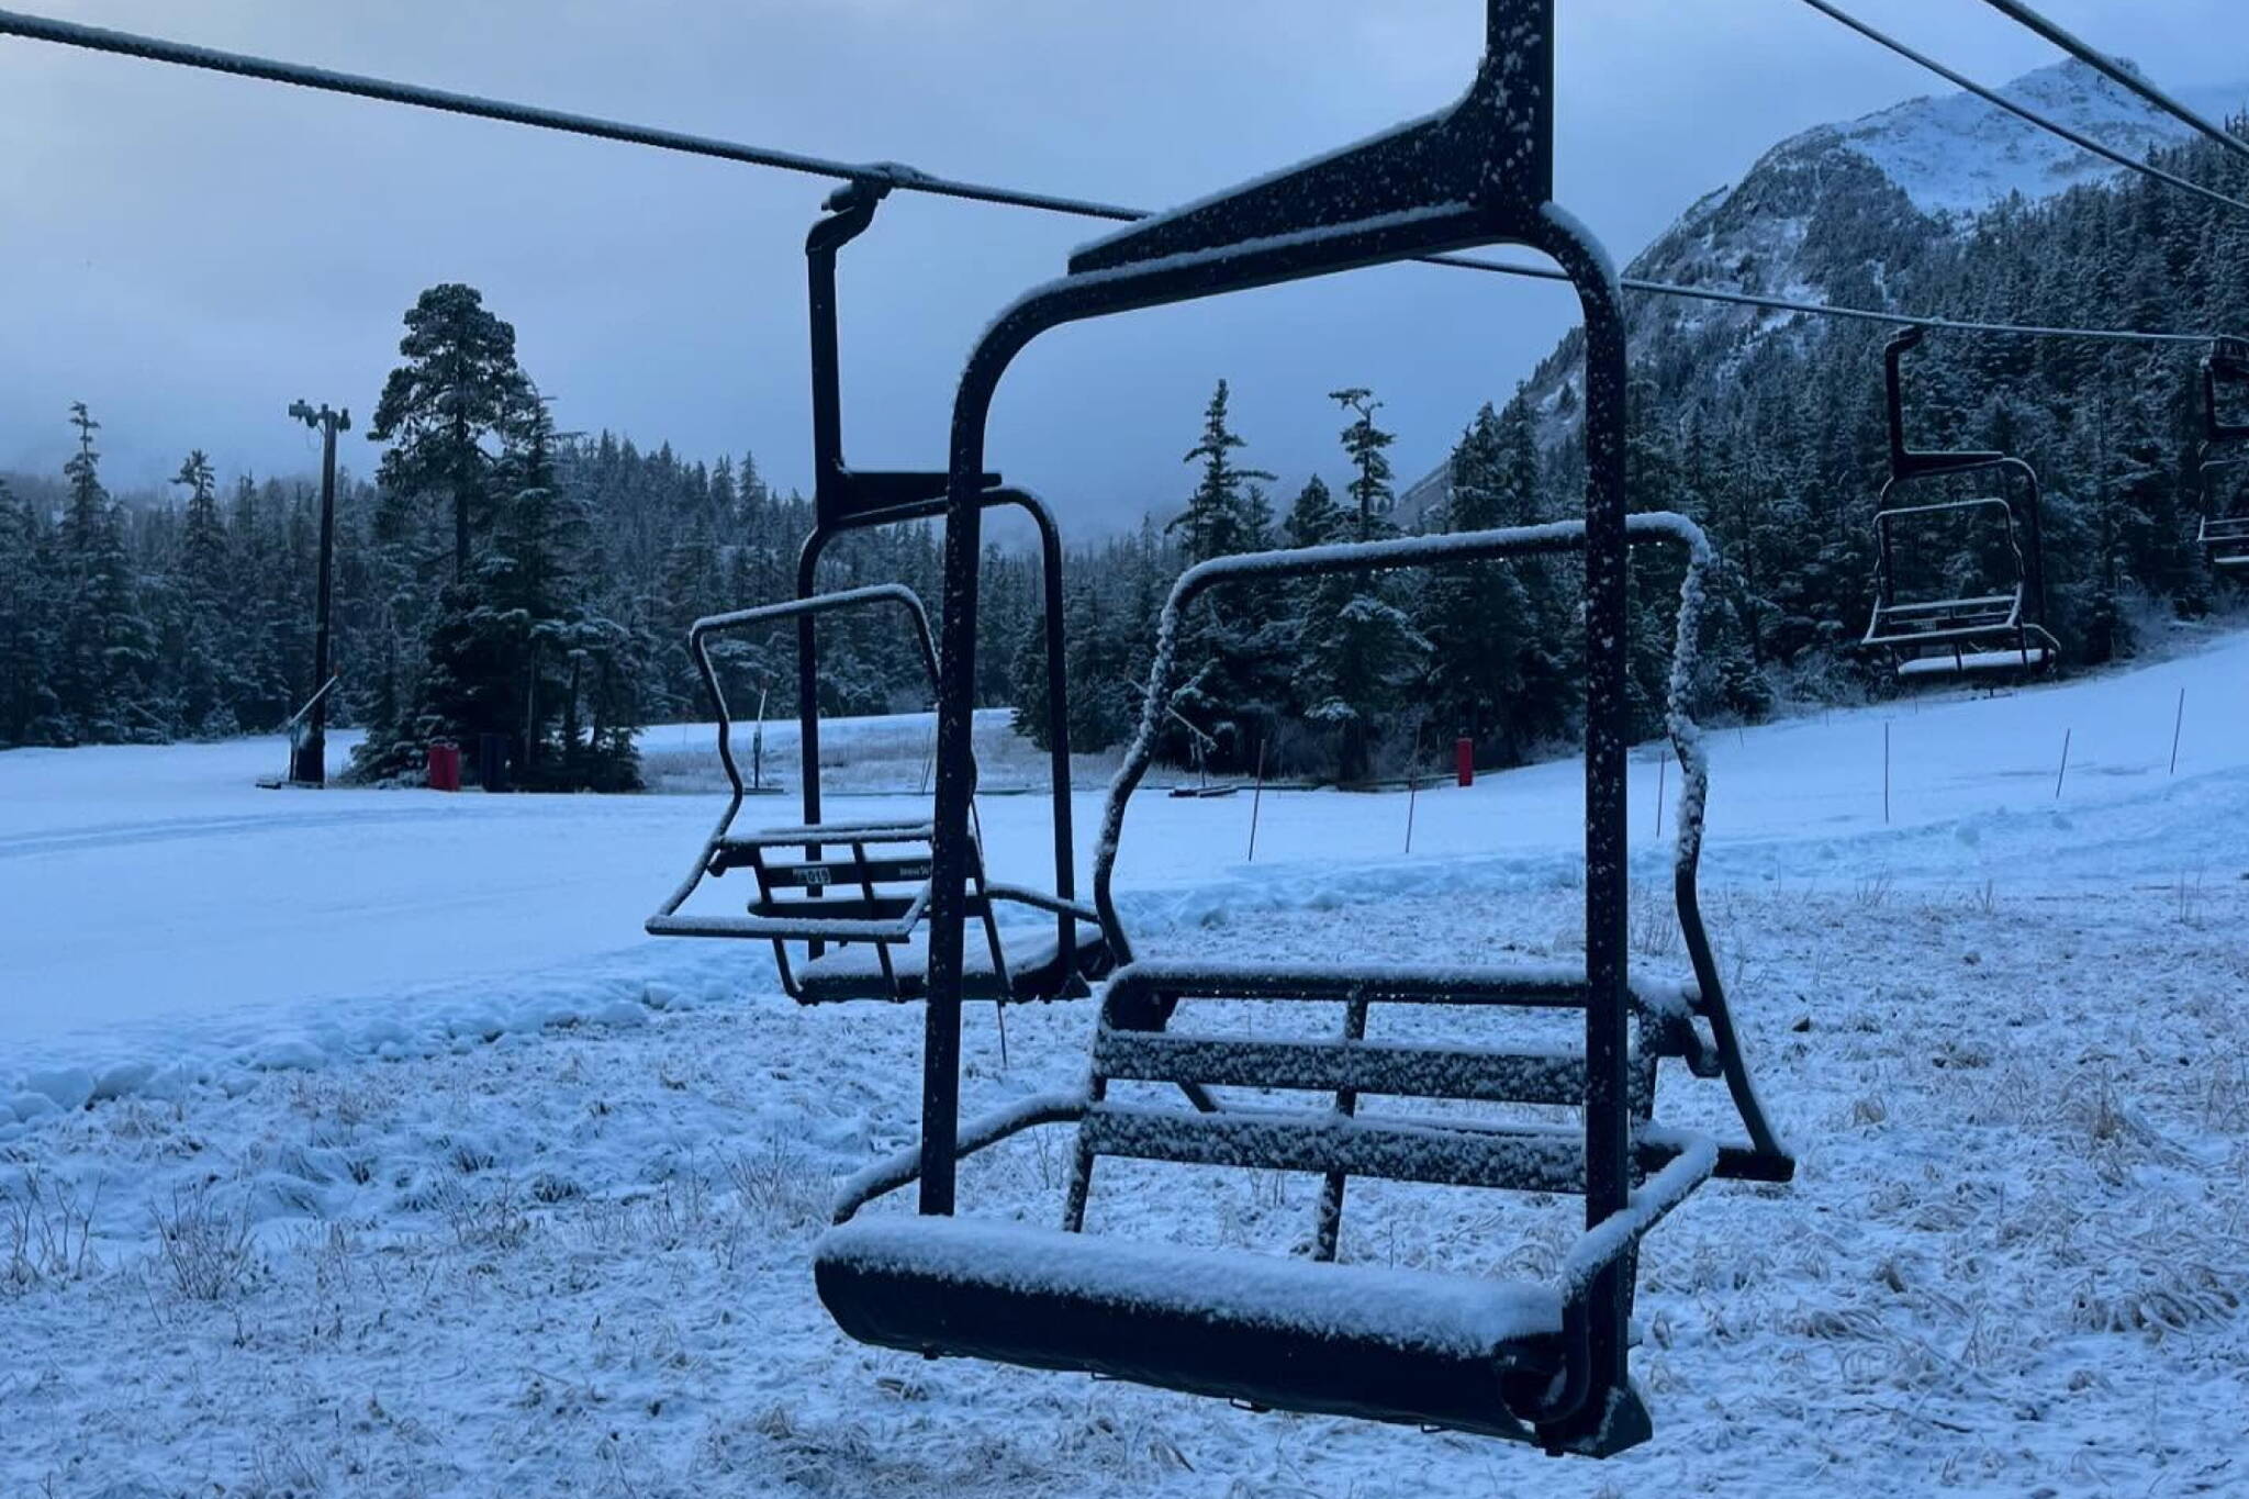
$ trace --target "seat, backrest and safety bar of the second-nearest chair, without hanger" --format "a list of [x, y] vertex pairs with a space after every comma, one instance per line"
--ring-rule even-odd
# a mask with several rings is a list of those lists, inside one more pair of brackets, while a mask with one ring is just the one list
[[[717, 712], [720, 764], [733, 796], [704, 841], [695, 867], [645, 926], [652, 937], [771, 942], [780, 987], [801, 1005], [866, 998], [906, 1002], [927, 996], [924, 924], [936, 827], [929, 820], [893, 820], [735, 832], [747, 787], [733, 760], [733, 726], [711, 661], [711, 641], [780, 620], [877, 607], [904, 611], [922, 665], [936, 683], [929, 616], [922, 600], [904, 584], [735, 609], [695, 620], [688, 632], [688, 647]], [[706, 876], [724, 876], [729, 870], [749, 870], [756, 879], [758, 888], [744, 915], [681, 912]], [[1107, 971], [1102, 933], [1091, 906], [987, 881], [981, 847], [972, 850], [969, 881], [972, 915], [983, 942], [969, 948], [965, 998], [1017, 1002], [1089, 993], [1089, 980]], [[1041, 919], [1030, 926], [1003, 926], [1001, 908], [1035, 912]]]

